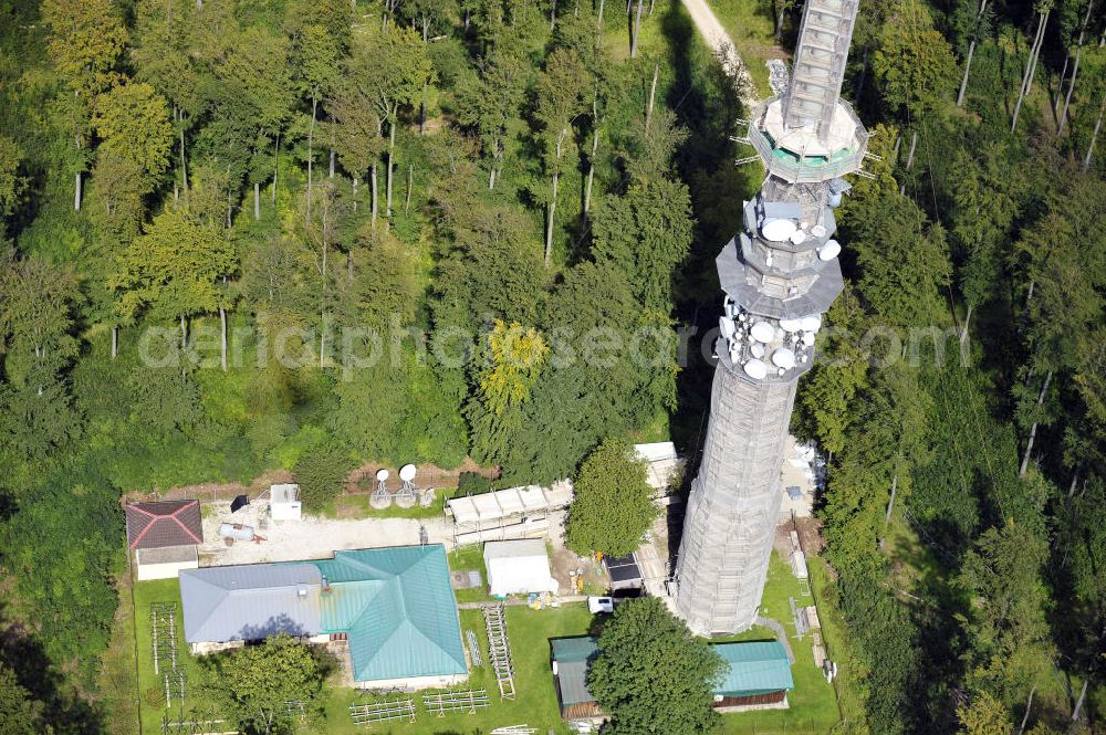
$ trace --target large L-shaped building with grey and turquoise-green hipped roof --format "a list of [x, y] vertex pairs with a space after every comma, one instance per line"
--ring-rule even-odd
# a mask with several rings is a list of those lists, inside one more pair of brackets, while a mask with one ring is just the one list
[[182, 576], [180, 592], [186, 639], [197, 652], [283, 631], [313, 643], [347, 641], [358, 687], [437, 687], [468, 678], [441, 545], [206, 567]]

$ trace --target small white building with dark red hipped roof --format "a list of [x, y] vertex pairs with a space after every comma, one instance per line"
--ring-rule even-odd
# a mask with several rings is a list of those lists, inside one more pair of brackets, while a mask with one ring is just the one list
[[127, 503], [127, 545], [139, 580], [171, 579], [199, 566], [204, 543], [200, 503], [196, 498]]

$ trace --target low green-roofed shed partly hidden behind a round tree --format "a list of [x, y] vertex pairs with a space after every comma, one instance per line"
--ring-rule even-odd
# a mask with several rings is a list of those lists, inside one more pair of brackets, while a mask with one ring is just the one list
[[[597, 639], [557, 638], [550, 643], [561, 716], [605, 718], [587, 689], [587, 670], [599, 652]], [[787, 651], [779, 641], [713, 643], [711, 649], [727, 663], [722, 679], [713, 687], [714, 708], [741, 712], [789, 706], [787, 692], [795, 687], [795, 682]]]

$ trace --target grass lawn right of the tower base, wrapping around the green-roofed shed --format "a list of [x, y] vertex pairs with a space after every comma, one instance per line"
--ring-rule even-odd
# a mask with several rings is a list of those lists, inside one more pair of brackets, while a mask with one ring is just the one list
[[[775, 733], [808, 733], [822, 735], [837, 724], [837, 699], [834, 689], [826, 683], [822, 670], [814, 665], [814, 653], [811, 650], [811, 636], [804, 636], [800, 641], [795, 634], [795, 626], [791, 617], [789, 597], [795, 598], [795, 605], [808, 606], [814, 598], [804, 597], [799, 588], [799, 580], [791, 574], [786, 561], [773, 552], [769, 566], [768, 584], [764, 587], [764, 599], [761, 603], [761, 615], [772, 618], [787, 630], [791, 650], [795, 654], [795, 665], [791, 674], [795, 680], [795, 689], [787, 695], [791, 707], [787, 710], [764, 710], [758, 712], [739, 712], [722, 717], [723, 731], [727, 735], [774, 735]], [[740, 636], [726, 640], [770, 640], [774, 636], [763, 628], [747, 630]]]

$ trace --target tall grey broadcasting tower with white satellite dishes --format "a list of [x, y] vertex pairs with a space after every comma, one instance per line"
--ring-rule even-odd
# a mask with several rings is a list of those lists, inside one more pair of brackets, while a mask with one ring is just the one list
[[808, 0], [790, 84], [752, 111], [764, 164], [744, 230], [722, 248], [726, 297], [699, 474], [675, 576], [677, 612], [701, 636], [753, 624], [783, 489], [780, 471], [799, 377], [843, 283], [833, 210], [868, 134], [842, 101], [858, 0]]

